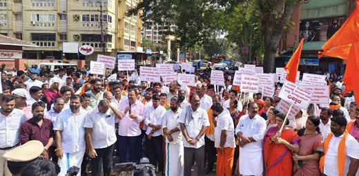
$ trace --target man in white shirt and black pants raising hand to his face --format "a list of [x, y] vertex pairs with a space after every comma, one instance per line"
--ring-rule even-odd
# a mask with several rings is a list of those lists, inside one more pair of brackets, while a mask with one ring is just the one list
[[121, 120], [122, 113], [113, 107], [109, 100], [101, 100], [97, 107], [86, 115], [84, 127], [88, 156], [92, 158], [92, 175], [100, 175], [101, 168], [104, 169], [104, 176], [111, 175], [113, 144], [117, 140], [115, 118]]

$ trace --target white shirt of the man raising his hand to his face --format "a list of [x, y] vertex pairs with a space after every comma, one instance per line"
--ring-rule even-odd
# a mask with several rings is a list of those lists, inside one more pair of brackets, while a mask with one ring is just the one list
[[106, 113], [99, 112], [99, 108], [95, 107], [85, 118], [85, 128], [93, 129], [91, 139], [93, 140], [93, 148], [106, 148], [115, 144], [115, 114], [108, 108]]

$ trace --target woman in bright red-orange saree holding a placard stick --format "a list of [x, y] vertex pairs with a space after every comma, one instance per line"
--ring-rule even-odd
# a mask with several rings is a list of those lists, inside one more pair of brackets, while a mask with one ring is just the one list
[[[291, 176], [293, 168], [292, 152], [299, 151], [300, 137], [293, 130], [287, 128], [289, 120], [285, 122], [285, 113], [278, 113], [276, 126], [272, 126], [264, 136], [264, 160], [266, 176]], [[280, 132], [283, 126], [282, 132]]]

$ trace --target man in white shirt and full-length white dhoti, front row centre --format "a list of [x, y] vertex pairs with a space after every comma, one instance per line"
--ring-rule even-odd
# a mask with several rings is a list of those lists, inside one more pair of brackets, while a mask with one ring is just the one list
[[179, 108], [179, 99], [177, 96], [171, 98], [171, 109], [164, 113], [162, 129], [166, 135], [166, 176], [183, 176], [184, 168], [184, 146], [182, 142], [182, 132], [180, 130], [178, 118], [182, 109]]

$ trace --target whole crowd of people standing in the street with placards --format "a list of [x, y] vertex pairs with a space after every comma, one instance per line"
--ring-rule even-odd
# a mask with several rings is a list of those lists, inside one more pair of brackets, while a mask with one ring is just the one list
[[359, 109], [330, 74], [330, 103], [286, 120], [275, 109], [279, 83], [273, 96], [244, 94], [229, 74], [225, 86], [211, 85], [209, 70], [195, 72], [193, 87], [116, 69], [108, 76], [84, 68], [14, 72], [1, 73], [0, 175], [28, 173], [4, 155], [33, 140], [59, 175], [71, 166], [78, 175], [113, 175], [114, 156], [120, 163], [148, 157], [157, 175], [191, 175], [193, 164], [200, 176], [359, 175]]

